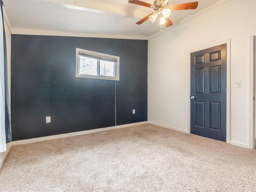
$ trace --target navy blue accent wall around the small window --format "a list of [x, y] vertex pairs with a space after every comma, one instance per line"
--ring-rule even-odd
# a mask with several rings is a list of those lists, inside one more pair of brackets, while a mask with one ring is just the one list
[[115, 125], [115, 81], [76, 78], [76, 48], [120, 56], [117, 125], [147, 120], [146, 40], [12, 35], [13, 141]]

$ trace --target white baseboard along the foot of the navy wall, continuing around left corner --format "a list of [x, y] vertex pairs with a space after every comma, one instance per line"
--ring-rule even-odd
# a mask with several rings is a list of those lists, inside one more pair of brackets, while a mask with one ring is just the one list
[[4, 160], [5, 160], [6, 156], [8, 155], [8, 152], [10, 151], [10, 148], [13, 145], [21, 145], [21, 144], [34, 143], [34, 142], [39, 142], [39, 141], [46, 141], [46, 140], [52, 140], [52, 139], [76, 136], [76, 135], [83, 135], [83, 134], [89, 134], [89, 133], [95, 133], [95, 132], [102, 132], [102, 131], [107, 131], [107, 130], [112, 130], [112, 129], [125, 128], [125, 127], [136, 126], [136, 125], [142, 125], [142, 124], [146, 124], [146, 123], [148, 123], [148, 122], [147, 121], [143, 121], [143, 122], [130, 123], [130, 124], [125, 124], [125, 125], [118, 125], [118, 126], [105, 127], [105, 128], [98, 128], [98, 129], [79, 131], [79, 132], [72, 132], [72, 133], [66, 133], [66, 134], [60, 134], [60, 135], [52, 135], [52, 136], [46, 136], [46, 137], [26, 139], [26, 140], [12, 141], [12, 142], [9, 142], [9, 143], [6, 144], [6, 152], [0, 153], [0, 168], [2, 167], [2, 164], [4, 163]]

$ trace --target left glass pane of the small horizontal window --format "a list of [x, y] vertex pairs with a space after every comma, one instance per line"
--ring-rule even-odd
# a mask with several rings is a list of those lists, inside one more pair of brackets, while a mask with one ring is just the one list
[[79, 55], [79, 74], [97, 75], [97, 59]]

